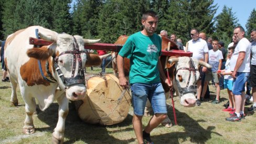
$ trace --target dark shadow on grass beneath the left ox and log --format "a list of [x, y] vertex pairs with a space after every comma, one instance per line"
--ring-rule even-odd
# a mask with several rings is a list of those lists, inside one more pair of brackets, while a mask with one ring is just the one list
[[[49, 127], [38, 128], [37, 131], [54, 131], [58, 121], [58, 104], [53, 103], [48, 107], [45, 112], [40, 112], [37, 114], [37, 117], [40, 121], [49, 125]], [[123, 127], [130, 125], [132, 122], [132, 116], [129, 114], [126, 119], [118, 125], [112, 126], [101, 126], [101, 125], [92, 125], [87, 124], [81, 121], [79, 118], [76, 109], [72, 103], [69, 103], [69, 114], [66, 118], [65, 124], [65, 141], [64, 143], [74, 143], [76, 141], [83, 141], [84, 143], [130, 143], [135, 141], [134, 138], [128, 140], [116, 139], [113, 136], [110, 136], [110, 131], [107, 127]], [[132, 128], [126, 128], [122, 130], [113, 130], [111, 133], [119, 133], [120, 131], [131, 131]]]

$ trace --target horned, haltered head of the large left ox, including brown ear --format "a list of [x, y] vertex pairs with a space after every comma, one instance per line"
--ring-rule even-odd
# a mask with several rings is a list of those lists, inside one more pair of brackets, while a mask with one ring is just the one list
[[70, 100], [83, 99], [86, 95], [83, 68], [87, 61], [84, 44], [96, 43], [100, 39], [87, 40], [79, 35], [66, 33], [45, 35], [39, 32], [38, 35], [52, 44], [45, 46], [45, 49], [41, 49], [44, 46], [30, 49], [27, 51], [28, 56], [41, 60], [50, 58], [56, 70], [53, 77], [57, 80], [59, 88], [65, 90], [66, 97]]

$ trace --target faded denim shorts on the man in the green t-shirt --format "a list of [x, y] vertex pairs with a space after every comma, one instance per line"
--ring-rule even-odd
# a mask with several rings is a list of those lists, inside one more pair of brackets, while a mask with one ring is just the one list
[[143, 116], [147, 99], [150, 100], [154, 114], [166, 114], [166, 98], [163, 86], [157, 83], [133, 83], [131, 86], [134, 114]]

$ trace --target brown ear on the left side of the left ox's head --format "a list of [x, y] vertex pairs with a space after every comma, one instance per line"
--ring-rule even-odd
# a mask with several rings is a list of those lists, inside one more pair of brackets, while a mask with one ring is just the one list
[[28, 57], [33, 57], [40, 60], [48, 59], [53, 53], [54, 51], [52, 49], [48, 49], [48, 46], [27, 50]]

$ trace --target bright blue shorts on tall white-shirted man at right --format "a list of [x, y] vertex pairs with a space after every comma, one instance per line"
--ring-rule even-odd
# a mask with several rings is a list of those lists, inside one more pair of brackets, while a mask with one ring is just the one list
[[234, 95], [241, 95], [242, 92], [245, 91], [244, 86], [246, 84], [247, 79], [249, 78], [249, 74], [250, 73], [237, 72], [237, 78], [233, 81], [232, 92]]

